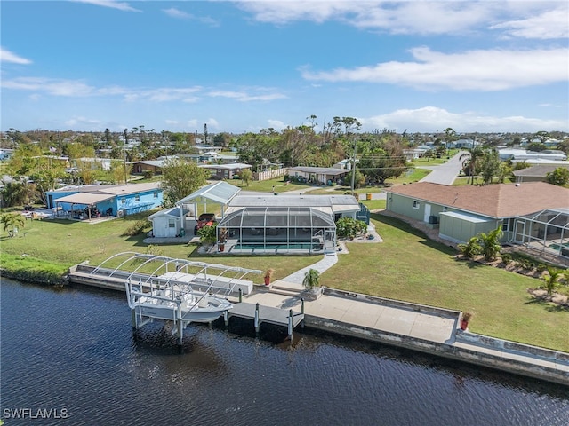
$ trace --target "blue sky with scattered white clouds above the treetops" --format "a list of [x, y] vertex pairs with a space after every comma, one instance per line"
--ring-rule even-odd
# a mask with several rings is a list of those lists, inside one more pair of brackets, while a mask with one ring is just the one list
[[2, 0], [0, 20], [3, 131], [569, 131], [565, 0]]

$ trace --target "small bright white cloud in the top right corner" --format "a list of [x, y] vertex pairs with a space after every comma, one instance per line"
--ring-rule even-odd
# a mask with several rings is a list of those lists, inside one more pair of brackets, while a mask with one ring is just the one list
[[569, 37], [569, 10], [567, 4], [554, 11], [543, 12], [525, 20], [509, 20], [491, 29], [505, 28], [509, 36], [537, 39]]

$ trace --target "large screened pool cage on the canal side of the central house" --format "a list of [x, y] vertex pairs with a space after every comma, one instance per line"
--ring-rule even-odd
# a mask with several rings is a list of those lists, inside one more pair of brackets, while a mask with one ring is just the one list
[[332, 209], [244, 207], [217, 226], [218, 250], [236, 254], [322, 254], [336, 247]]

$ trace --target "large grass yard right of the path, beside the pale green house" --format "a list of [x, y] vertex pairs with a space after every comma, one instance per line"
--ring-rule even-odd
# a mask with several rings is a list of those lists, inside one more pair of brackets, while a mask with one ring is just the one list
[[323, 274], [322, 284], [357, 293], [475, 312], [475, 333], [569, 351], [569, 312], [535, 302], [526, 288], [541, 281], [454, 258], [391, 217], [372, 215], [383, 242], [348, 243], [349, 255]]

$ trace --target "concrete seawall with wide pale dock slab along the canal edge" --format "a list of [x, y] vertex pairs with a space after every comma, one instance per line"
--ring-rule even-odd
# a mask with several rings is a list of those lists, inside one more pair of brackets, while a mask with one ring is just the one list
[[[69, 281], [124, 291], [124, 276], [94, 277], [89, 273], [91, 270], [91, 267], [78, 266], [69, 274]], [[458, 329], [459, 311], [331, 288], [325, 288], [323, 293], [317, 301], [305, 304], [306, 327], [569, 386], [569, 353], [463, 332]], [[267, 292], [251, 296], [267, 306], [276, 306], [272, 298], [279, 297]], [[300, 309], [300, 297], [280, 297], [284, 297], [290, 307]], [[277, 304], [282, 302], [279, 299]], [[414, 321], [412, 327], [410, 316]], [[430, 319], [437, 322], [431, 326]], [[438, 324], [443, 324], [442, 333], [435, 335], [431, 327], [439, 327]], [[386, 327], [392, 327], [391, 331]]]

